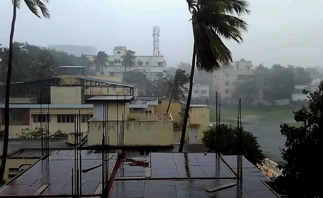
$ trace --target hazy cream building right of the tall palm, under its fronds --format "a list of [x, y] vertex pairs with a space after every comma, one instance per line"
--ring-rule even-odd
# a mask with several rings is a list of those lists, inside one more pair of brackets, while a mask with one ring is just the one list
[[214, 72], [213, 87], [216, 92], [221, 93], [223, 99], [226, 99], [225, 102], [228, 102], [236, 85], [253, 78], [254, 71], [251, 61], [244, 59], [235, 61], [233, 68]]

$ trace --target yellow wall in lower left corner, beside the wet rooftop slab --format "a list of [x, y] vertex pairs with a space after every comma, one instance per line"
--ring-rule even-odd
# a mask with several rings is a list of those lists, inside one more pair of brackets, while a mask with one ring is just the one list
[[[38, 158], [35, 159], [13, 159], [13, 158], [7, 158], [6, 164], [5, 164], [5, 172], [4, 172], [4, 177], [6, 182], [9, 182], [11, 179], [8, 178], [8, 174], [19, 174], [23, 170], [27, 169], [31, 165], [25, 165], [22, 166], [19, 169], [19, 172], [9, 172], [9, 168], [19, 168], [20, 165], [22, 164], [33, 164], [38, 160]], [[1, 161], [1, 159], [0, 159]]]

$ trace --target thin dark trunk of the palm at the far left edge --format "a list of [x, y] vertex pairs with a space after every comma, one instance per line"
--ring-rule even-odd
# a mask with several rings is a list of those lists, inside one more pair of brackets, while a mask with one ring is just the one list
[[11, 32], [9, 41], [9, 60], [7, 68], [7, 80], [5, 85], [5, 103], [4, 103], [4, 136], [3, 136], [3, 150], [1, 157], [1, 167], [0, 167], [0, 182], [3, 179], [5, 171], [5, 163], [8, 154], [8, 141], [9, 141], [9, 98], [10, 98], [10, 80], [11, 80], [11, 68], [12, 68], [12, 56], [13, 56], [13, 34], [14, 26], [17, 17], [17, 4], [16, 0], [13, 0], [13, 16], [11, 22]]

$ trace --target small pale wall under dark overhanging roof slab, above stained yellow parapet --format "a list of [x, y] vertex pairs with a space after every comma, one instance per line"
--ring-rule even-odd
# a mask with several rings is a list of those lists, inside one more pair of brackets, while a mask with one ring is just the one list
[[[126, 106], [123, 106], [123, 103], [118, 103], [118, 111], [117, 111], [117, 103], [108, 103], [108, 120], [114, 121], [122, 120], [122, 114], [125, 110], [125, 120], [128, 120], [128, 114], [129, 114], [129, 103], [125, 103]], [[94, 103], [93, 104], [94, 109], [94, 117], [96, 121], [103, 121], [103, 103]], [[117, 113], [118, 112], [118, 113]], [[118, 115], [118, 116], [117, 116]]]

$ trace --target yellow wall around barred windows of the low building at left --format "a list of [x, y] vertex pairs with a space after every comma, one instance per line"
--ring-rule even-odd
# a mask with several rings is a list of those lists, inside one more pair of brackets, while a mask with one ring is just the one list
[[[43, 109], [43, 114], [47, 114], [47, 109]], [[23, 129], [33, 129], [36, 127], [40, 127], [40, 123], [33, 122], [33, 114], [40, 114], [39, 108], [31, 108], [30, 109], [30, 124], [29, 125], [10, 125], [9, 126], [9, 138], [17, 138], [22, 134]], [[78, 108], [51, 108], [50, 109], [50, 123], [49, 130], [50, 134], [54, 134], [56, 131], [61, 130], [64, 133], [74, 133], [74, 123], [58, 123], [57, 122], [57, 114], [79, 114]], [[81, 114], [93, 114], [92, 108], [82, 108]], [[0, 130], [4, 129], [4, 125], [0, 127]], [[87, 123], [81, 123], [81, 132], [87, 131]]]

